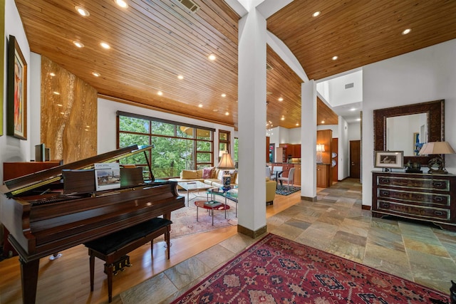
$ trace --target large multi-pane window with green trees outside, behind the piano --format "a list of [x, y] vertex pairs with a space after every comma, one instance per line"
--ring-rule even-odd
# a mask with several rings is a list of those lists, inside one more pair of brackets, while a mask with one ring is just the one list
[[[147, 155], [155, 178], [178, 177], [183, 169], [214, 165], [214, 130], [180, 122], [118, 112], [118, 148], [152, 145]], [[120, 164], [147, 166], [145, 154], [120, 160]]]

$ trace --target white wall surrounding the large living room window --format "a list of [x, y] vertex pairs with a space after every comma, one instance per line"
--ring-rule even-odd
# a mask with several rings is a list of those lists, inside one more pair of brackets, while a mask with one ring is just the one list
[[199, 125], [201, 127], [212, 127], [216, 129], [217, 133], [214, 138], [214, 155], [217, 162], [217, 155], [219, 154], [219, 141], [218, 129], [230, 131], [231, 134], [231, 151], [234, 149], [234, 127], [227, 125], [219, 125], [212, 122], [204, 122], [202, 120], [195, 120], [190, 117], [178, 116], [170, 113], [149, 110], [146, 108], [136, 107], [135, 105], [127, 105], [125, 103], [116, 103], [115, 101], [105, 100], [98, 98], [98, 154], [109, 152], [116, 149], [116, 112], [130, 112], [150, 117], [158, 117], [164, 120], [172, 120], [175, 122], [188, 123], [192, 125]]

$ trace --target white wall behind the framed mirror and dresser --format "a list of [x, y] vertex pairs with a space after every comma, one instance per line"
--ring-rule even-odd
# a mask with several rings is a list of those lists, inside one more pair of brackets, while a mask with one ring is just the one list
[[[363, 205], [372, 205], [373, 110], [445, 99], [445, 140], [456, 147], [456, 39], [363, 68]], [[456, 154], [445, 155], [456, 173]]]

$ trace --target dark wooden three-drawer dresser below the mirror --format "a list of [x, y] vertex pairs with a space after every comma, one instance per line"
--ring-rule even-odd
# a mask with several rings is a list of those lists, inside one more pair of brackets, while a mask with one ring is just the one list
[[456, 231], [456, 175], [373, 172], [372, 216], [430, 221]]

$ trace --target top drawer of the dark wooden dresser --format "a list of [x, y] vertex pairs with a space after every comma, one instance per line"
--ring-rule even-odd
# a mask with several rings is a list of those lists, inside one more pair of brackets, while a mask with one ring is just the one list
[[450, 191], [450, 180], [448, 179], [420, 179], [379, 175], [377, 176], [377, 184], [378, 186]]

